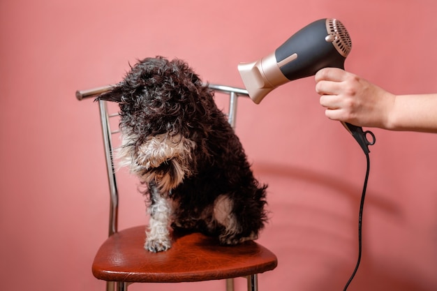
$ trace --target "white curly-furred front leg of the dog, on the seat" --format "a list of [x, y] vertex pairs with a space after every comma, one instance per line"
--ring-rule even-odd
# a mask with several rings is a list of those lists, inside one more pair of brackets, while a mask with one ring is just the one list
[[157, 189], [151, 191], [151, 205], [149, 207], [149, 229], [146, 231], [145, 248], [151, 252], [167, 251], [171, 246], [170, 217], [172, 207], [170, 198], [163, 197]]

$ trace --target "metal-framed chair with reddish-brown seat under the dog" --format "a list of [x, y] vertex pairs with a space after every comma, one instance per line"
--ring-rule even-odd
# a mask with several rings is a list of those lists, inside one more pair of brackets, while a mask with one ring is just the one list
[[[244, 89], [209, 84], [216, 93], [230, 98], [228, 121], [235, 128], [237, 98], [248, 96]], [[96, 97], [111, 87], [77, 91], [76, 97]], [[101, 245], [92, 271], [96, 278], [107, 281], [108, 291], [127, 290], [131, 283], [177, 283], [226, 279], [226, 290], [234, 289], [233, 278], [246, 277], [249, 291], [258, 290], [258, 274], [274, 269], [276, 255], [255, 241], [245, 241], [237, 246], [220, 246], [216, 239], [200, 233], [174, 234], [172, 248], [151, 253], [143, 248], [145, 225], [126, 230], [117, 229], [118, 201], [117, 180], [112, 161], [112, 134], [110, 114], [106, 101], [99, 101], [103, 144], [110, 186], [109, 237]]]

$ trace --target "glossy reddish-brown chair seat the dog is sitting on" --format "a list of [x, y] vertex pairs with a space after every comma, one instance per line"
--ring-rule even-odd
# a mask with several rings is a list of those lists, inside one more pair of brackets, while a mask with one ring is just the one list
[[146, 251], [145, 225], [121, 230], [98, 250], [92, 271], [105, 281], [175, 283], [219, 280], [272, 270], [277, 258], [255, 241], [221, 246], [200, 233], [172, 235], [172, 248]]

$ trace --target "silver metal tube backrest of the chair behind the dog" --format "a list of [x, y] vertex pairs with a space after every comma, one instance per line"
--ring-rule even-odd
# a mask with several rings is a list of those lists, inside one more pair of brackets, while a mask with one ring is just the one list
[[[215, 96], [224, 95], [228, 96], [228, 122], [232, 128], [235, 129], [237, 119], [237, 100], [239, 96], [249, 97], [248, 91], [236, 87], [228, 87], [218, 84], [208, 84], [208, 87], [213, 89], [216, 93]], [[84, 98], [95, 98], [98, 95], [109, 91], [112, 86], [99, 87], [96, 89], [89, 89], [83, 91], [76, 91], [76, 98], [82, 100]], [[113, 129], [114, 124], [111, 119], [119, 117], [117, 112], [111, 113], [108, 106], [108, 101], [99, 100], [98, 106], [100, 110], [101, 126], [103, 133], [103, 146], [105, 148], [105, 160], [106, 168], [108, 172], [108, 183], [110, 191], [110, 217], [109, 217], [109, 236], [118, 231], [118, 206], [119, 206], [119, 193], [117, 188], [117, 179], [115, 176], [113, 152], [114, 145], [112, 144], [112, 135], [119, 133], [119, 128]]]

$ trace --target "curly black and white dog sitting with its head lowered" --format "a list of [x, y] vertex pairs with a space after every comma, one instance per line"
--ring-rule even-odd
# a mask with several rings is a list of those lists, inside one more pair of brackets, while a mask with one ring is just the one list
[[223, 245], [258, 238], [267, 185], [253, 177], [237, 135], [186, 62], [146, 58], [98, 100], [119, 103], [120, 166], [145, 185], [145, 248], [171, 247], [170, 230], [202, 232]]

